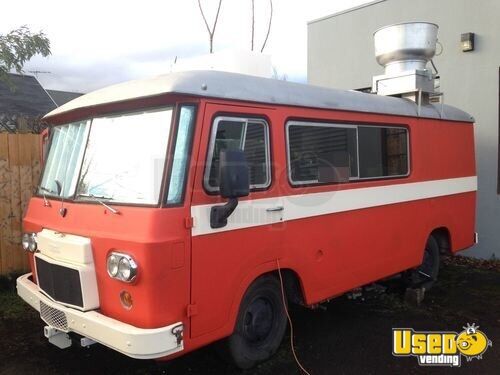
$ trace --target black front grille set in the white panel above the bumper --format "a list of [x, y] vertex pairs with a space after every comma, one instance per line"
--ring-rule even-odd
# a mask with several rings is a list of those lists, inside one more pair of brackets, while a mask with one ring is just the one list
[[83, 307], [80, 274], [77, 270], [35, 257], [38, 286], [55, 301]]

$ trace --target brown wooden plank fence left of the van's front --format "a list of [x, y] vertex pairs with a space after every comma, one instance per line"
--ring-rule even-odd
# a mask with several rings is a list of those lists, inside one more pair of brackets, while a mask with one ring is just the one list
[[40, 136], [0, 133], [0, 274], [28, 268], [22, 218], [40, 176]]

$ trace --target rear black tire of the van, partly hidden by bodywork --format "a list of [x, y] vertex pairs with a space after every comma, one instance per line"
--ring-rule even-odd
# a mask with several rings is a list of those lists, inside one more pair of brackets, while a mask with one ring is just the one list
[[422, 264], [404, 275], [405, 282], [410, 288], [424, 288], [429, 290], [439, 275], [439, 244], [430, 236], [425, 245]]

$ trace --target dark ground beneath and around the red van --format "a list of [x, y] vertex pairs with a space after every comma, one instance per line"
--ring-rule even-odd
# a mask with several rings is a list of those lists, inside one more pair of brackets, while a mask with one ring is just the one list
[[[311, 374], [498, 374], [500, 369], [500, 263], [447, 259], [440, 281], [423, 303], [411, 306], [395, 282], [365, 301], [340, 297], [326, 310], [292, 308], [296, 350]], [[2, 283], [0, 283], [2, 284]], [[59, 350], [43, 337], [43, 323], [3, 283], [0, 291], [0, 374], [300, 374], [290, 336], [268, 362], [239, 371], [221, 360], [214, 346], [158, 366], [132, 360], [103, 346]], [[2, 287], [0, 285], [0, 287]], [[460, 331], [476, 323], [493, 341], [482, 360], [462, 367], [422, 368], [416, 358], [391, 354], [391, 328]]]

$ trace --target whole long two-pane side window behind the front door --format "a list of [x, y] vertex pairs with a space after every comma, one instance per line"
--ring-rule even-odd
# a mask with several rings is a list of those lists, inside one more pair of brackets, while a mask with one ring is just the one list
[[288, 175], [292, 185], [405, 176], [408, 130], [289, 122]]

